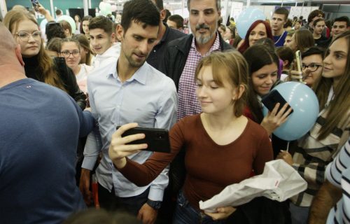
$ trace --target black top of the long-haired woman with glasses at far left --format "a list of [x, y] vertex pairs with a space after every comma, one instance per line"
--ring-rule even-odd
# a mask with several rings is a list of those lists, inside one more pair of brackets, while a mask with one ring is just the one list
[[[34, 57], [23, 57], [25, 62], [25, 74], [28, 78], [33, 78], [35, 80], [44, 82], [42, 71], [38, 66], [38, 56]], [[66, 61], [64, 57], [55, 57], [54, 59], [55, 70], [58, 73], [59, 78], [62, 80], [64, 88], [67, 93], [76, 101], [81, 109], [85, 109], [86, 106], [86, 96], [83, 91], [79, 89], [76, 83], [76, 76], [73, 71], [66, 66]]]

